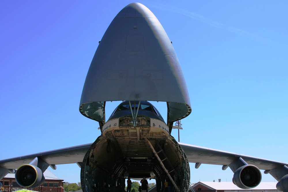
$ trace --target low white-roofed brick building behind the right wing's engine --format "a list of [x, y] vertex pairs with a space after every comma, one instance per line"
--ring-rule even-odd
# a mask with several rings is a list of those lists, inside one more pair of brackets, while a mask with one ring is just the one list
[[[276, 189], [276, 182], [260, 182], [252, 189], [241, 189], [233, 182], [197, 182], [193, 185], [196, 192], [281, 192]], [[189, 190], [191, 192], [191, 190]]]

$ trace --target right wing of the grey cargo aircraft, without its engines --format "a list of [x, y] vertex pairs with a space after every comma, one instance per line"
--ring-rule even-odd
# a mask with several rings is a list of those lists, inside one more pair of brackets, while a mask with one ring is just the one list
[[283, 165], [288, 166], [288, 163], [280, 161], [272, 161], [248, 155], [241, 155], [239, 153], [231, 153], [217, 149], [200, 147], [196, 145], [189, 145], [179, 143], [186, 153], [189, 163], [204, 163], [212, 165], [229, 165], [236, 159], [241, 157], [246, 163], [255, 165], [261, 170], [273, 170]]

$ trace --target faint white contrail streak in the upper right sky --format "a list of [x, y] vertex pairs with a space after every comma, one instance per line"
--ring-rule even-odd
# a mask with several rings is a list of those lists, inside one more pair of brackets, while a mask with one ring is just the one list
[[[153, 3], [154, 4], [154, 3]], [[197, 19], [199, 21], [202, 21], [208, 25], [211, 25], [213, 27], [217, 27], [217, 28], [220, 28], [220, 29], [224, 29], [226, 31], [230, 31], [232, 33], [236, 33], [238, 35], [241, 35], [243, 37], [246, 37], [246, 38], [249, 38], [249, 39], [253, 39], [253, 40], [256, 40], [258, 42], [262, 42], [262, 43], [273, 43], [273, 44], [278, 44], [278, 45], [282, 45], [282, 46], [287, 46], [286, 44], [280, 44], [278, 42], [274, 42], [270, 39], [267, 39], [267, 38], [263, 38], [263, 37], [260, 37], [260, 36], [257, 36], [257, 35], [253, 35], [251, 33], [248, 33], [246, 31], [243, 31], [241, 29], [237, 29], [235, 27], [230, 27], [228, 25], [225, 25], [223, 23], [219, 23], [219, 22], [216, 22], [216, 21], [213, 21], [209, 18], [206, 18], [202, 15], [198, 15], [196, 13], [193, 13], [193, 12], [189, 12], [187, 10], [184, 10], [184, 9], [180, 9], [180, 8], [177, 8], [177, 7], [171, 7], [171, 6], [168, 6], [168, 5], [163, 5], [163, 4], [158, 4], [158, 5], [152, 5], [158, 9], [162, 9], [162, 10], [166, 10], [166, 11], [171, 11], [171, 12], [176, 12], [176, 13], [179, 13], [179, 14], [182, 14], [182, 15], [185, 15], [185, 16], [188, 16], [188, 17], [191, 17], [193, 19]]]

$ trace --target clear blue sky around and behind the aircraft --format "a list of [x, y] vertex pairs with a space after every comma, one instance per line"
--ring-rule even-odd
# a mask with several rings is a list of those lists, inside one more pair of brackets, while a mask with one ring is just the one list
[[[163, 25], [187, 82], [192, 113], [180, 142], [288, 162], [288, 1], [139, 2]], [[98, 41], [129, 3], [0, 1], [0, 159], [100, 135], [80, 97]], [[107, 116], [118, 103], [106, 104]], [[164, 117], [166, 104], [153, 104]], [[78, 165], [57, 167], [80, 182]], [[190, 167], [192, 183], [232, 180], [221, 166]]]

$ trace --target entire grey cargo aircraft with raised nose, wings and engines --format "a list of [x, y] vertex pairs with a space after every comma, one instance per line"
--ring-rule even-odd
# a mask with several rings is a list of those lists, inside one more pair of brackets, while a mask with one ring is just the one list
[[[106, 101], [123, 101], [106, 121]], [[167, 123], [148, 101], [167, 103]], [[169, 178], [176, 190], [189, 189], [195, 163], [223, 165], [234, 172], [233, 182], [251, 189], [261, 182], [261, 170], [271, 174], [280, 191], [288, 192], [287, 163], [178, 143], [173, 123], [191, 113], [180, 63], [155, 15], [140, 3], [124, 7], [106, 30], [91, 62], [79, 107], [99, 122], [94, 143], [0, 161], [0, 179], [16, 171], [22, 187], [36, 187], [48, 166], [77, 163], [83, 191], [98, 191], [111, 174], [155, 178], [164, 191]]]

